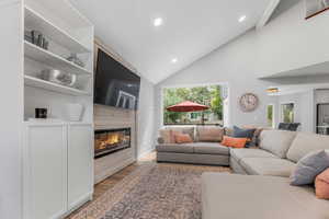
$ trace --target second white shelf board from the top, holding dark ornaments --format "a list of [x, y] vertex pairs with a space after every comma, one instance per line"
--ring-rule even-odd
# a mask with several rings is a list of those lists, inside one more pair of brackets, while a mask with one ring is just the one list
[[24, 42], [24, 53], [26, 57], [48, 65], [55, 69], [59, 69], [68, 73], [92, 76], [92, 72], [88, 71], [87, 69], [26, 41]]

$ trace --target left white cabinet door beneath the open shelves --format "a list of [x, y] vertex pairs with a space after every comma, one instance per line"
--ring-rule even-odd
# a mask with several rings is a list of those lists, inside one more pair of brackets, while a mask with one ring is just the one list
[[24, 218], [60, 217], [67, 211], [67, 126], [29, 125], [24, 153]]

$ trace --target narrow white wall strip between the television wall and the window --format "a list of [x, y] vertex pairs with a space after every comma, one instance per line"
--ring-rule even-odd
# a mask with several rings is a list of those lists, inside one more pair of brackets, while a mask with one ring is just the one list
[[137, 158], [155, 147], [155, 84], [141, 78], [139, 96]]

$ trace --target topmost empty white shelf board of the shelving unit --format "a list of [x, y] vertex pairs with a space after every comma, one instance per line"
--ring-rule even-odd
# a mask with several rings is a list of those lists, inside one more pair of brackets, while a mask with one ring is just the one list
[[87, 48], [79, 41], [70, 36], [64, 30], [57, 27], [47, 19], [25, 5], [25, 26], [31, 26], [43, 33], [43, 35], [59, 45], [63, 45], [71, 53], [82, 54], [90, 53], [91, 49]]

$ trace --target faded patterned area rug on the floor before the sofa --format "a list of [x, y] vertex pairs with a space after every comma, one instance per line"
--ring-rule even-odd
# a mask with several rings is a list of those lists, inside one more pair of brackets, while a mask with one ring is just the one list
[[201, 219], [201, 175], [227, 168], [147, 164], [71, 219]]

